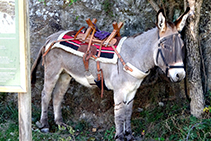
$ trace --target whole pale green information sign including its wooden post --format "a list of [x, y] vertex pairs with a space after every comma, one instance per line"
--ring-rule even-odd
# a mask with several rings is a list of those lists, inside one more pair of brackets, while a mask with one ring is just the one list
[[19, 140], [31, 141], [28, 0], [0, 0], [0, 92], [18, 92]]

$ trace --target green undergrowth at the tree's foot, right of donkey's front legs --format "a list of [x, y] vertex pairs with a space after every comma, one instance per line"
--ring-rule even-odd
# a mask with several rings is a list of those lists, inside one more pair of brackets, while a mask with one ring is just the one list
[[190, 116], [186, 105], [179, 107], [173, 104], [168, 108], [169, 106], [141, 112], [140, 118], [132, 121], [135, 134], [138, 135], [141, 130], [145, 130], [145, 138], [158, 141], [211, 139], [210, 111], [204, 113], [203, 118], [198, 119]]

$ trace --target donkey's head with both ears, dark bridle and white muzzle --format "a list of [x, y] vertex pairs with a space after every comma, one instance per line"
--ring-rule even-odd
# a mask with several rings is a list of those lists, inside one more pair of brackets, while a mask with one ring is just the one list
[[182, 52], [184, 44], [179, 32], [185, 26], [189, 11], [190, 8], [188, 7], [185, 13], [174, 23], [166, 21], [163, 9], [157, 14], [158, 51], [156, 54], [156, 65], [173, 82], [181, 81], [185, 77]]

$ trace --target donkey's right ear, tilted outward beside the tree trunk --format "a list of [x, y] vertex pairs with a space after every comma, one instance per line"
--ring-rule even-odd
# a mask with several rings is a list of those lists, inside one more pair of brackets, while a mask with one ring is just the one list
[[186, 11], [174, 22], [176, 25], [177, 31], [182, 31], [183, 27], [185, 26], [186, 19], [189, 16], [190, 7], [187, 7]]

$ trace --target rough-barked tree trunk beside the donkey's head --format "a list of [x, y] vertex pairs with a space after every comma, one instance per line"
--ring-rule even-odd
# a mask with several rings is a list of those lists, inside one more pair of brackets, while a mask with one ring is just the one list
[[[185, 43], [187, 49], [187, 80], [188, 90], [191, 98], [191, 114], [200, 117], [204, 109], [204, 95], [201, 79], [201, 58], [199, 50], [199, 19], [203, 0], [188, 0], [192, 15], [188, 19], [185, 30]], [[194, 12], [194, 14], [193, 14]]]

